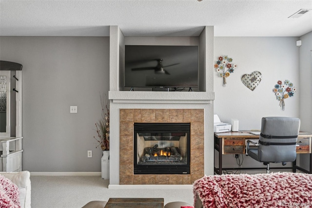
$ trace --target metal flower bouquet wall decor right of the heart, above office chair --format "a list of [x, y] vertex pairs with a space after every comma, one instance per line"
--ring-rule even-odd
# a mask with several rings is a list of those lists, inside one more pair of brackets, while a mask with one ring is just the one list
[[282, 81], [278, 81], [275, 84], [273, 92], [276, 95], [276, 99], [279, 101], [279, 106], [281, 106], [282, 110], [285, 110], [285, 99], [292, 97], [293, 94], [297, 91], [297, 88], [293, 87], [293, 84], [289, 80], [285, 80], [284, 84]]

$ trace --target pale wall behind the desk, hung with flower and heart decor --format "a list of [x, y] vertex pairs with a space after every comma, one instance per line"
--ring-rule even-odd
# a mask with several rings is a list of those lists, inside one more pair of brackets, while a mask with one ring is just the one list
[[[215, 62], [219, 56], [228, 55], [237, 64], [237, 69], [226, 79], [225, 87], [222, 86], [222, 78], [217, 76], [216, 71], [214, 73], [214, 113], [219, 115], [222, 122], [231, 123], [231, 119], [235, 118], [239, 120], [239, 130], [250, 130], [260, 129], [261, 118], [265, 116], [299, 117], [300, 92], [305, 89], [302, 89], [299, 82], [297, 39], [215, 37]], [[261, 72], [262, 80], [252, 91], [242, 83], [241, 77], [254, 71]], [[286, 79], [297, 87], [298, 92], [285, 99], [285, 110], [282, 111], [273, 88], [278, 80], [284, 82]], [[250, 157], [243, 157], [242, 167], [263, 166]], [[223, 164], [227, 167], [238, 167], [234, 155], [223, 156]]]

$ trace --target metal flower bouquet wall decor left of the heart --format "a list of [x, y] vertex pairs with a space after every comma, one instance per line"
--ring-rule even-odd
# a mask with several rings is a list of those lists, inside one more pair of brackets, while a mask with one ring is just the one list
[[232, 61], [233, 59], [228, 56], [220, 56], [215, 63], [218, 76], [223, 78], [222, 86], [225, 86], [226, 78], [229, 77], [230, 73], [233, 73], [234, 69], [237, 67], [235, 63], [231, 63]]

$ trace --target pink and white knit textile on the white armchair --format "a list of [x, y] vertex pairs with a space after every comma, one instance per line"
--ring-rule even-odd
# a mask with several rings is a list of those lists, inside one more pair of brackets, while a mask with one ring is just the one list
[[0, 208], [20, 208], [19, 187], [1, 174]]

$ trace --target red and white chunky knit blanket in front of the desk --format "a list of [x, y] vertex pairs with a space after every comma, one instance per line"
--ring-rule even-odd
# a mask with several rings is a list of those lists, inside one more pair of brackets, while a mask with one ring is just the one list
[[312, 207], [312, 174], [271, 173], [205, 176], [193, 185], [194, 206], [204, 208]]

